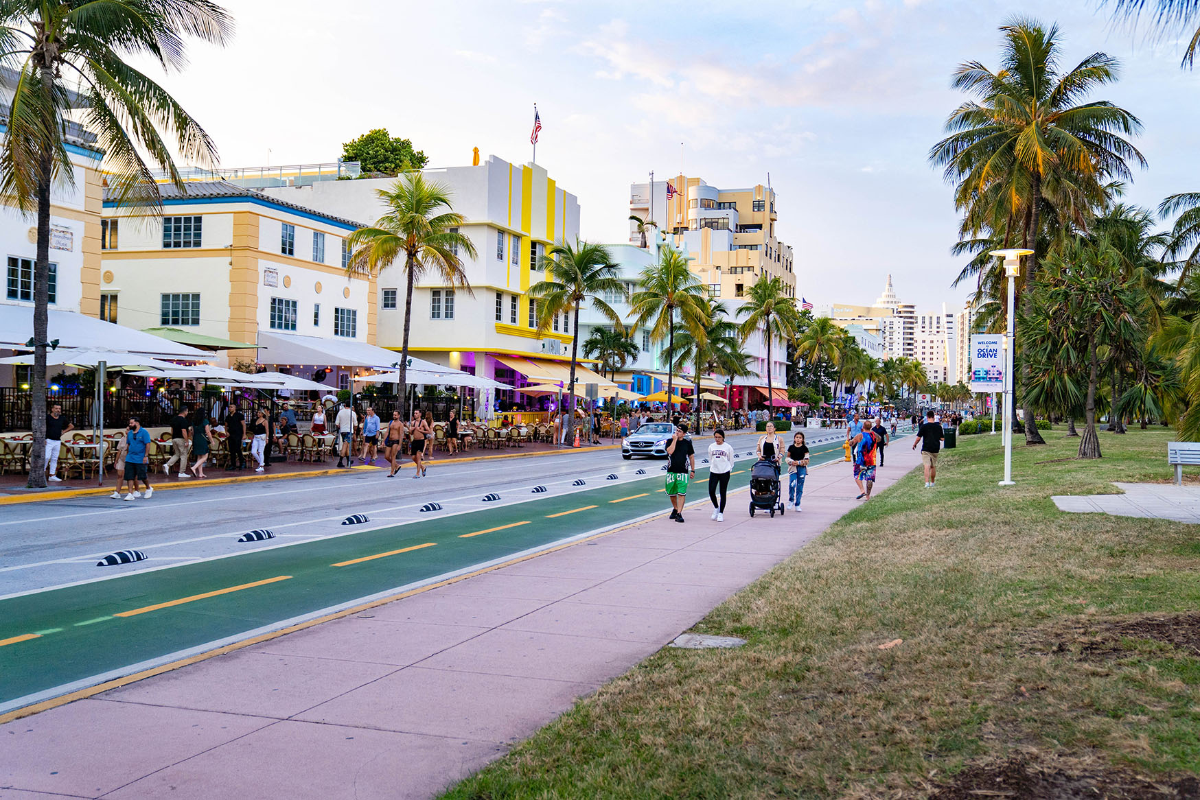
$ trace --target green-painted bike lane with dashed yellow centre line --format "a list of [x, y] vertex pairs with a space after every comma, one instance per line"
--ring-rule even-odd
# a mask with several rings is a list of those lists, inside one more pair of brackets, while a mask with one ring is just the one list
[[[814, 465], [841, 452], [814, 449]], [[737, 462], [730, 491], [748, 485], [751, 463]], [[697, 470], [691, 500], [707, 497], [707, 480]], [[0, 600], [0, 710], [664, 512], [662, 481], [654, 463], [569, 494]]]

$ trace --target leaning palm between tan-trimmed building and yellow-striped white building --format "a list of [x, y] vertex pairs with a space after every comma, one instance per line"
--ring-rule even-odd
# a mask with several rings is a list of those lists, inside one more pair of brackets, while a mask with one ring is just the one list
[[408, 335], [413, 323], [413, 287], [436, 275], [451, 289], [474, 295], [458, 253], [475, 258], [475, 246], [458, 227], [467, 218], [451, 206], [450, 190], [425, 180], [420, 172], [404, 173], [391, 188], [376, 190], [388, 212], [374, 225], [349, 235], [348, 275], [378, 275], [404, 257], [404, 336], [401, 341], [396, 408], [407, 419]]

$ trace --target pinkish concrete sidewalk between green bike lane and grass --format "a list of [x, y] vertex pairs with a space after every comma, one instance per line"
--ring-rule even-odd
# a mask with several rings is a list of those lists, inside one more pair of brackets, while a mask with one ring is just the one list
[[[919, 464], [910, 446], [888, 449], [878, 491]], [[664, 515], [10, 722], [0, 799], [433, 796], [695, 625], [856, 494], [836, 462], [809, 473], [802, 513], [751, 519], [743, 491], [716, 523], [701, 483], [684, 524]]]

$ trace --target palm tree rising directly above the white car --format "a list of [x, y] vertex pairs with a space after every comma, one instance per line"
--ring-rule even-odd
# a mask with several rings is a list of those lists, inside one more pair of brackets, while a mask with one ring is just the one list
[[[670, 353], [674, 349], [676, 325], [680, 321], [677, 318], [682, 318], [684, 326], [703, 318], [700, 301], [704, 297], [704, 289], [688, 266], [688, 257], [671, 247], [659, 254], [658, 264], [642, 270], [638, 285], [629, 299], [630, 313], [635, 317], [634, 327], [649, 323], [650, 339], [666, 341]], [[674, 372], [667, 366], [668, 405], [673, 390]]]

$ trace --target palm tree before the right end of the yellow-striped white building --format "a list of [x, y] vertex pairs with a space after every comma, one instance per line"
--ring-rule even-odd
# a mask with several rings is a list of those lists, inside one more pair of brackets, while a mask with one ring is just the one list
[[[574, 317], [574, 330], [580, 331], [580, 307], [592, 299], [592, 308], [623, 330], [620, 315], [600, 295], [616, 294], [624, 299], [629, 290], [620, 279], [620, 266], [614, 264], [604, 245], [575, 240], [575, 246], [558, 242], [541, 257], [539, 266], [546, 271], [542, 281], [529, 287], [529, 296], [538, 299], [538, 332], [550, 330], [559, 314]], [[575, 367], [580, 357], [580, 337], [571, 337], [571, 377], [568, 392], [566, 440], [575, 429]]]

